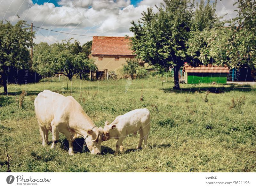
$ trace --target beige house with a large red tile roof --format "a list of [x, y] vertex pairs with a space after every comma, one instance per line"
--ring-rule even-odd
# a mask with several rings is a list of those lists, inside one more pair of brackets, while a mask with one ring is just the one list
[[129, 42], [129, 37], [93, 36], [90, 58], [95, 60], [98, 71], [92, 77], [106, 79], [109, 71], [117, 73], [126, 63], [125, 59], [134, 58]]

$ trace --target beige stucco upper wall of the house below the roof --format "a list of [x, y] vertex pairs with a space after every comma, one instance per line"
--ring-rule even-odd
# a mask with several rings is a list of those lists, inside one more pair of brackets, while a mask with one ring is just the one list
[[[99, 56], [103, 57], [102, 61], [99, 61]], [[119, 61], [115, 61], [115, 57], [119, 57]], [[112, 56], [112, 55], [91, 55], [90, 58], [95, 59], [94, 64], [98, 67], [99, 70], [108, 69], [108, 71], [119, 70], [122, 67], [122, 64], [126, 63], [125, 59], [132, 58], [134, 56]]]

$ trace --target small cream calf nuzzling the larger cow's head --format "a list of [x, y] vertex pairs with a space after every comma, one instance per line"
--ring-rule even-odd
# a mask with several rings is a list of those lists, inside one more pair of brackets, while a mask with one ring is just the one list
[[139, 131], [140, 141], [137, 149], [141, 148], [143, 139], [144, 148], [146, 148], [149, 127], [150, 113], [148, 109], [135, 109], [127, 112], [122, 116], [116, 117], [116, 119], [111, 124], [106, 121], [103, 128], [103, 140], [107, 141], [111, 138], [117, 139], [115, 154], [118, 154], [119, 149], [120, 152], [124, 151], [123, 140], [125, 139], [125, 137], [131, 133], [136, 134]]

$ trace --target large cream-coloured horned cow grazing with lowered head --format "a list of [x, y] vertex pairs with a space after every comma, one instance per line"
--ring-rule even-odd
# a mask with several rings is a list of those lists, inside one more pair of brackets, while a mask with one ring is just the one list
[[100, 154], [103, 129], [96, 127], [81, 105], [72, 96], [44, 90], [35, 99], [36, 118], [39, 131], [43, 139], [43, 146], [48, 143], [48, 132], [52, 132], [52, 147], [59, 140], [59, 132], [68, 140], [70, 155], [74, 154], [73, 141], [78, 136], [85, 139], [85, 143], [92, 154]]

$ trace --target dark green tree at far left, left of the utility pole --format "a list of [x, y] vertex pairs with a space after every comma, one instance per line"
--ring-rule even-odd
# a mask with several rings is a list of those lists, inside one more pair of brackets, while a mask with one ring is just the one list
[[7, 94], [7, 80], [10, 70], [31, 69], [28, 48], [32, 45], [34, 33], [29, 31], [25, 21], [19, 20], [14, 26], [6, 20], [0, 21], [0, 76]]

